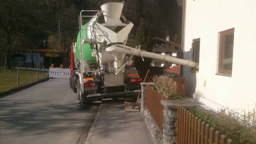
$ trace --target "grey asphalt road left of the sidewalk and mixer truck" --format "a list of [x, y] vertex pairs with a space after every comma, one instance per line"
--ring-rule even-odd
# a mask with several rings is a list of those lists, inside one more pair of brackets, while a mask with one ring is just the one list
[[99, 104], [76, 98], [61, 79], [0, 98], [0, 143], [84, 143]]

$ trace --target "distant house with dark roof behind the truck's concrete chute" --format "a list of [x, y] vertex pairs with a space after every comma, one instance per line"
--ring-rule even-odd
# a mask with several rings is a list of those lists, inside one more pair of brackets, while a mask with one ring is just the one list
[[[180, 56], [180, 50], [181, 50], [181, 45], [174, 43], [173, 41], [170, 41], [170, 37], [167, 36], [166, 39], [162, 39], [162, 38], [153, 38], [153, 53], [157, 53], [157, 54], [162, 54], [162, 55], [170, 55], [172, 57], [179, 57]], [[176, 66], [176, 63], [170, 63], [170, 67], [174, 67]], [[153, 59], [152, 60], [152, 66], [160, 66], [163, 67], [164, 66], [164, 62], [163, 61], [159, 61], [157, 59]]]

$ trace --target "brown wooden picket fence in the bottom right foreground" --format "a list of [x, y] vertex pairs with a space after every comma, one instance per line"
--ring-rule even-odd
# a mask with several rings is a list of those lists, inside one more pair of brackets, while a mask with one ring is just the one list
[[178, 106], [177, 144], [231, 144], [232, 140], [209, 127], [209, 124]]

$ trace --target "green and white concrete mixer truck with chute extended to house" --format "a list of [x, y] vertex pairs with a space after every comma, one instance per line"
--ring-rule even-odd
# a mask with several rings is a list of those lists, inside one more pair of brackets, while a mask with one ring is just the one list
[[[134, 55], [198, 67], [198, 63], [128, 47], [127, 38], [134, 25], [122, 15], [123, 7], [124, 2], [113, 2], [102, 4], [100, 11], [80, 12], [79, 34], [72, 44], [71, 85], [81, 104], [138, 94], [141, 78], [136, 75], [136, 69], [126, 69]], [[85, 22], [88, 17], [90, 20]], [[129, 74], [131, 77], [127, 77]]]

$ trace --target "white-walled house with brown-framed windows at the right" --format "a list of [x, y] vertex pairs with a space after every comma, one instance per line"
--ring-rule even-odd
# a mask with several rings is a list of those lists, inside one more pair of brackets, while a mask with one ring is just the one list
[[187, 95], [208, 106], [252, 110], [256, 104], [256, 1], [184, 0]]

